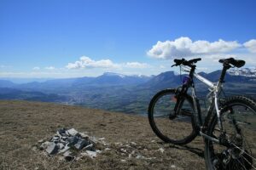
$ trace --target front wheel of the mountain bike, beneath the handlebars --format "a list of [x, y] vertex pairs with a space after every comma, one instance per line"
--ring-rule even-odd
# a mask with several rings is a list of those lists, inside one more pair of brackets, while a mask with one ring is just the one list
[[176, 89], [165, 89], [154, 95], [148, 106], [148, 120], [154, 133], [172, 144], [188, 144], [195, 139], [194, 106], [189, 95], [183, 96], [183, 104], [177, 104]]

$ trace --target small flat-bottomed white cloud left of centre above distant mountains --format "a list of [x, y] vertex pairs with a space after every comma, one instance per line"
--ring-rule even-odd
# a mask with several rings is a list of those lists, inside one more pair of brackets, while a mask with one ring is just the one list
[[83, 68], [116, 68], [119, 65], [114, 64], [110, 59], [93, 60], [89, 57], [82, 56], [74, 63], [68, 63], [67, 69], [83, 69]]

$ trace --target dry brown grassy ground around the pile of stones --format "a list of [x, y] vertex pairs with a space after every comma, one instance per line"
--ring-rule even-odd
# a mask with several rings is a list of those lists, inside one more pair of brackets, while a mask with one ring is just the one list
[[[35, 150], [62, 127], [75, 128], [104, 142], [95, 158], [62, 161]], [[205, 169], [203, 141], [164, 144], [147, 116], [91, 110], [78, 106], [0, 101], [0, 169]]]

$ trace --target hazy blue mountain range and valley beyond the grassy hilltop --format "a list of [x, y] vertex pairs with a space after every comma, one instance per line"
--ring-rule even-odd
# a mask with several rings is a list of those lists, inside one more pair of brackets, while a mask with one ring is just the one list
[[[221, 71], [201, 72], [201, 76], [217, 82]], [[14, 83], [0, 80], [0, 99], [25, 99], [83, 105], [109, 111], [143, 114], [150, 99], [160, 89], [175, 88], [184, 75], [166, 71], [157, 76], [126, 76], [106, 72], [99, 77], [52, 79], [44, 82]], [[224, 89], [227, 94], [256, 94], [256, 77], [227, 74]], [[198, 94], [205, 95], [207, 87], [195, 80]]]

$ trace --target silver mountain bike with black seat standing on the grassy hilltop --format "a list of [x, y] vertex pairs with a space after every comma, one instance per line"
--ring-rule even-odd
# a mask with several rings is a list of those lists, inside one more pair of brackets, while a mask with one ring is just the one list
[[[180, 66], [188, 76], [180, 87], [154, 95], [148, 106], [150, 126], [160, 139], [172, 144], [188, 144], [201, 135], [207, 169], [256, 169], [256, 102], [242, 95], [220, 97], [226, 72], [245, 61], [219, 59], [223, 70], [213, 83], [195, 72], [200, 60], [174, 59], [172, 66]], [[201, 109], [194, 77], [209, 87], [206, 111]]]

